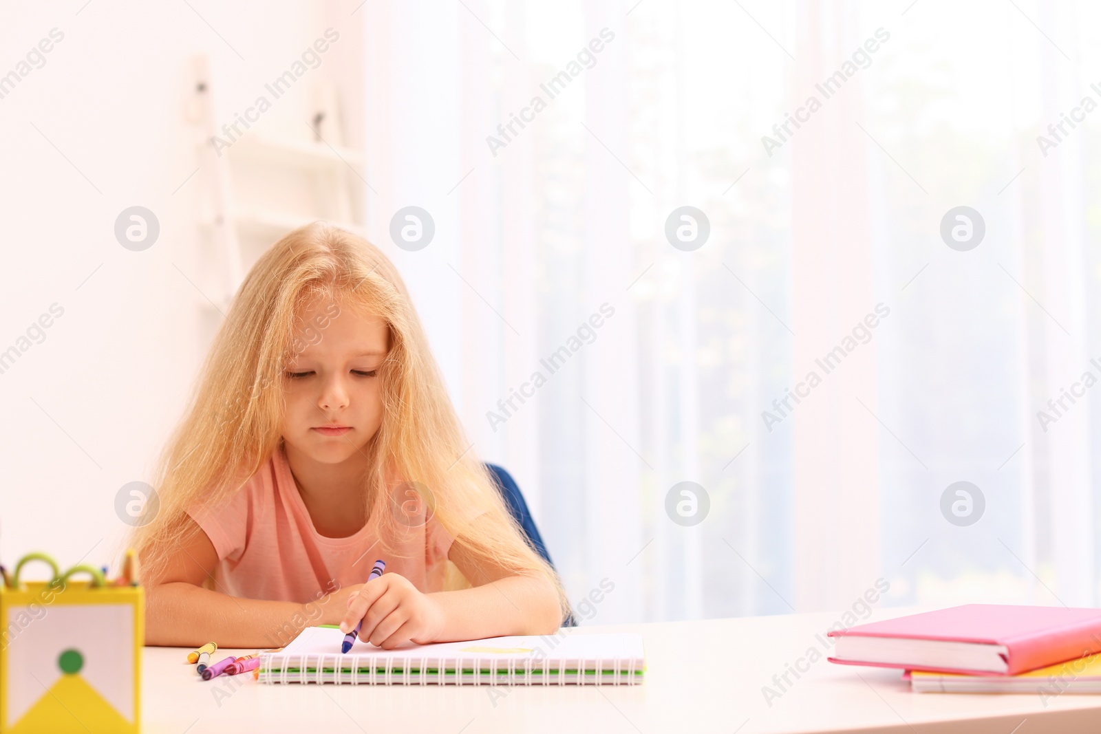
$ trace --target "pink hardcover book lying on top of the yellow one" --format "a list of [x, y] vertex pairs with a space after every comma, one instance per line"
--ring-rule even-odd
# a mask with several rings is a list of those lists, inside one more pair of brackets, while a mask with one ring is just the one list
[[1101, 610], [966, 604], [828, 636], [830, 662], [1013, 676], [1101, 653]]

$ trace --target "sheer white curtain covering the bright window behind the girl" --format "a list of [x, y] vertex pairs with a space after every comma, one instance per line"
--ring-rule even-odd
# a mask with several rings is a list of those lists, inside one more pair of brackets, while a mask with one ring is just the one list
[[582, 622], [1097, 603], [1092, 6], [359, 12], [371, 237]]

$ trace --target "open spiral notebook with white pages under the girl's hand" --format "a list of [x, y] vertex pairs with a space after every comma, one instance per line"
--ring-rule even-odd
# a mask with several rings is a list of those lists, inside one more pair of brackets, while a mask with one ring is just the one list
[[490, 637], [384, 650], [344, 634], [307, 627], [290, 645], [260, 655], [262, 683], [632, 686], [646, 664], [642, 635], [570, 633]]

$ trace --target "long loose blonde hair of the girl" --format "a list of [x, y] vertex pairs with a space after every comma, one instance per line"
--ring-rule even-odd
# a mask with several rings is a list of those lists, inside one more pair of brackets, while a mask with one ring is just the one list
[[[237, 492], [280, 448], [283, 390], [288, 360], [301, 349], [296, 327], [318, 297], [381, 317], [390, 330], [379, 368], [382, 424], [363, 448], [373, 467], [363, 497], [379, 518], [383, 545], [408, 527], [395, 512], [396, 487], [416, 487], [453, 537], [478, 558], [513, 573], [543, 576], [558, 592], [563, 616], [569, 602], [554, 569], [526, 540], [490, 472], [465, 436], [424, 329], [393, 263], [363, 238], [323, 222], [291, 232], [269, 249], [241, 284], [214, 339], [186, 414], [154, 470], [160, 507], [133, 530], [130, 546], [143, 573], [155, 577], [174, 548], [189, 540], [188, 508], [212, 506]], [[391, 474], [391, 472], [393, 472]], [[388, 487], [386, 491], [375, 491]], [[491, 523], [464, 524], [471, 508]], [[466, 588], [450, 561], [445, 589]]]

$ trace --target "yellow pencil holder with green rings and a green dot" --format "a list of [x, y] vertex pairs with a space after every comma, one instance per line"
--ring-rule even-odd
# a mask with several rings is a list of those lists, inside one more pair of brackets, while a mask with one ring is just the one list
[[[32, 560], [53, 578], [20, 582]], [[109, 585], [88, 566], [59, 574], [42, 554], [23, 557], [11, 582], [0, 583], [0, 734], [140, 731], [142, 588]]]

